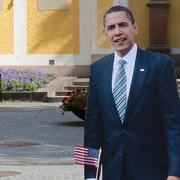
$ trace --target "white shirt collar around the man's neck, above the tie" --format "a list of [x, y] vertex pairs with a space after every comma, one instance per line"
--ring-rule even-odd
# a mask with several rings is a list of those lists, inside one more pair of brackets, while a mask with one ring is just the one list
[[132, 49], [122, 58], [114, 51], [114, 63], [117, 64], [120, 59], [124, 59], [128, 64], [134, 64], [137, 55], [137, 45], [134, 43]]

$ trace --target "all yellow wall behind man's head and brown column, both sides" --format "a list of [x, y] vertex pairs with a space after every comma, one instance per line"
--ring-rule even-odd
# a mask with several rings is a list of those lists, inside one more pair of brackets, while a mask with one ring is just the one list
[[[129, 8], [132, 10], [136, 22], [139, 24], [140, 31], [136, 35], [136, 42], [142, 48], [147, 48], [149, 45], [149, 8], [144, 0], [129, 0]], [[109, 48], [110, 45], [103, 35], [102, 19], [105, 9], [112, 5], [112, 0], [97, 2], [97, 45], [100, 48]], [[170, 47], [180, 48], [180, 0], [171, 0], [169, 15], [168, 15], [168, 42]]]

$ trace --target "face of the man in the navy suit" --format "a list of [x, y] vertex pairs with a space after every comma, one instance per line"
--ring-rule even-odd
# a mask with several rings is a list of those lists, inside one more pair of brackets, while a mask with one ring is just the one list
[[104, 33], [119, 56], [125, 56], [134, 45], [138, 25], [132, 24], [124, 11], [113, 12], [105, 17]]

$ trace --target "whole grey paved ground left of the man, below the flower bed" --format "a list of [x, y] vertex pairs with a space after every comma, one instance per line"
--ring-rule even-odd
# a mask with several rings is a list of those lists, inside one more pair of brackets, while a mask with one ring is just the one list
[[[73, 162], [73, 148], [82, 143], [83, 121], [63, 116], [58, 103], [0, 103], [2, 180], [83, 179], [83, 167]], [[1, 177], [11, 171], [17, 175]]]

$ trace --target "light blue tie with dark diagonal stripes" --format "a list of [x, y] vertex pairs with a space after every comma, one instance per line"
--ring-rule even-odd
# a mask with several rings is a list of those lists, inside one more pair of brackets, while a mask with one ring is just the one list
[[119, 61], [119, 69], [116, 74], [114, 88], [113, 88], [113, 97], [116, 104], [117, 111], [121, 122], [124, 122], [125, 112], [126, 112], [126, 88], [127, 88], [127, 79], [124, 65], [126, 64], [125, 60]]

